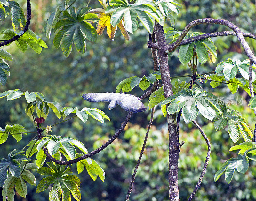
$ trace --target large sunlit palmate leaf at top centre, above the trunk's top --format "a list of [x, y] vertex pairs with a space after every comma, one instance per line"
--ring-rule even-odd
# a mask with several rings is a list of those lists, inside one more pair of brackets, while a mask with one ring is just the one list
[[129, 4], [126, 0], [111, 0], [105, 13], [111, 12], [113, 12], [111, 25], [115, 27], [124, 17], [125, 28], [130, 33], [134, 33], [138, 28], [137, 17], [150, 33], [153, 32], [154, 20], [162, 26], [164, 23], [161, 11], [156, 4], [150, 1], [136, 1], [133, 4]]

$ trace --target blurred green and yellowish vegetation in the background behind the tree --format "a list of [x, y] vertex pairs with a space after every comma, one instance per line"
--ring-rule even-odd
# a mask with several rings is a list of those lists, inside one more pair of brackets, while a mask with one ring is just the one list
[[[25, 11], [26, 1], [19, 0], [17, 2], [24, 5], [23, 10]], [[105, 143], [115, 133], [127, 114], [120, 107], [109, 112], [106, 103], [90, 103], [84, 101], [81, 95], [90, 92], [115, 92], [115, 88], [121, 80], [132, 75], [141, 77], [153, 72], [151, 51], [147, 48], [148, 33], [140, 26], [140, 29], [131, 35], [129, 41], [126, 41], [119, 31], [116, 33], [115, 40], [111, 41], [104, 32], [102, 36], [98, 36], [96, 43], [87, 41], [84, 55], [73, 49], [71, 55], [66, 58], [60, 48], [57, 50], [54, 48], [52, 38], [47, 40], [42, 31], [45, 20], [61, 1], [36, 0], [31, 3], [32, 21], [30, 28], [46, 41], [49, 48], [43, 48], [42, 53], [38, 55], [31, 49], [23, 54], [14, 44], [8, 46], [6, 49], [13, 56], [13, 62], [8, 62], [11, 76], [8, 78], [6, 86], [0, 86], [0, 93], [16, 88], [21, 91], [38, 91], [45, 95], [46, 100], [58, 101], [63, 107], [71, 106], [79, 109], [93, 107], [103, 110], [110, 117], [110, 122], [106, 121], [101, 124], [89, 118], [86, 123], [81, 123], [75, 118], [58, 124], [52, 130], [52, 134], [55, 135], [77, 138], [84, 142], [88, 151], [92, 151]], [[88, 1], [77, 0], [73, 5], [85, 7], [87, 3]], [[211, 17], [227, 19], [245, 32], [255, 33], [256, 17], [255, 1], [253, 0], [179, 0], [179, 3], [182, 7], [179, 15], [175, 15], [174, 28], [177, 30], [182, 30], [192, 20]], [[93, 8], [98, 5], [97, 1], [90, 3]], [[167, 26], [170, 26], [169, 21], [166, 23]], [[7, 20], [1, 24], [1, 27], [0, 29], [11, 28], [11, 22]], [[219, 25], [200, 25], [193, 28], [193, 31], [204, 33], [224, 30], [228, 29]], [[212, 40], [217, 46], [217, 61], [199, 66], [198, 73], [215, 71], [217, 63], [227, 58], [246, 59], [244, 50], [235, 36], [212, 38]], [[256, 41], [246, 40], [255, 52]], [[169, 57], [169, 69], [172, 76], [191, 74], [188, 66], [180, 64], [177, 53]], [[172, 82], [176, 80], [173, 79]], [[255, 116], [247, 106], [247, 93], [238, 91], [234, 96], [226, 86], [220, 85], [216, 89], [212, 89], [209, 82], [203, 87], [220, 97], [234, 97], [235, 100], [236, 97], [242, 97], [242, 105], [231, 104], [230, 107], [238, 110], [254, 129]], [[136, 87], [130, 93], [140, 96], [143, 91]], [[0, 127], [4, 128], [6, 124], [21, 124], [27, 130], [32, 131], [34, 129], [32, 121], [25, 115], [25, 101], [25, 99], [8, 102], [6, 99], [0, 100]], [[147, 105], [147, 101], [147, 99], [144, 100], [145, 105]], [[167, 124], [159, 106], [156, 107], [155, 114], [130, 200], [169, 200]], [[45, 126], [60, 121], [55, 115], [50, 115]], [[93, 182], [87, 172], [80, 173], [78, 177], [81, 180], [82, 200], [124, 200], [143, 144], [149, 115], [149, 110], [133, 115], [125, 128], [125, 132], [108, 148], [92, 157], [105, 170], [106, 179], [105, 182], [102, 182], [98, 178]], [[216, 183], [213, 181], [214, 174], [221, 164], [230, 157], [236, 157], [237, 154], [228, 151], [234, 143], [229, 138], [227, 129], [216, 132], [213, 123], [201, 115], [197, 117], [197, 122], [203, 126], [204, 132], [210, 139], [212, 153], [204, 180], [194, 200], [256, 200], [255, 162], [250, 164], [249, 171], [245, 175], [236, 172], [230, 185], [224, 180], [224, 176], [221, 176]], [[179, 133], [180, 140], [185, 141], [180, 150], [179, 158], [179, 191], [180, 200], [186, 200], [201, 174], [207, 145], [194, 125], [184, 123], [182, 118]], [[8, 138], [6, 143], [1, 144], [0, 158], [6, 157], [14, 148], [22, 149], [30, 138], [28, 134], [19, 143]], [[241, 139], [236, 144], [242, 141]], [[72, 165], [71, 168], [77, 174], [75, 165]], [[40, 181], [39, 175], [35, 175], [38, 176], [38, 183]], [[41, 201], [47, 200], [48, 196], [49, 192], [45, 191], [36, 194], [36, 188], [28, 185], [27, 198], [16, 197], [15, 199]]]

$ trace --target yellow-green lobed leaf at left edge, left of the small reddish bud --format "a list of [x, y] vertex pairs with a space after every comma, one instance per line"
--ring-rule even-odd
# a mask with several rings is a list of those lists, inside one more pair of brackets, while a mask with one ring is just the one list
[[23, 133], [26, 135], [27, 134], [26, 132], [27, 130], [19, 124], [14, 124], [14, 125], [7, 124], [5, 126], [5, 129], [2, 129], [0, 127], [0, 144], [4, 143], [7, 140], [8, 135], [12, 135], [12, 137], [15, 138], [18, 142], [22, 138], [22, 134], [20, 133]]

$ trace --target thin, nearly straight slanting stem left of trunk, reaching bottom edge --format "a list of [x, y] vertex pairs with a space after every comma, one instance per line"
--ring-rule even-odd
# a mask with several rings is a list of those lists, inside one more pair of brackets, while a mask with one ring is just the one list
[[154, 112], [155, 112], [155, 108], [153, 107], [152, 111], [151, 111], [151, 117], [150, 117], [150, 120], [149, 120], [149, 123], [148, 123], [148, 130], [147, 130], [146, 135], [145, 135], [144, 143], [143, 143], [143, 146], [142, 146], [142, 149], [141, 149], [141, 152], [140, 152], [140, 156], [139, 156], [138, 162], [137, 162], [137, 164], [135, 166], [135, 169], [134, 169], [134, 172], [133, 172], [133, 175], [132, 175], [132, 181], [130, 183], [130, 187], [128, 189], [127, 195], [125, 197], [125, 201], [128, 201], [129, 198], [130, 198], [130, 195], [131, 195], [132, 186], [133, 186], [133, 183], [134, 183], [134, 180], [135, 180], [135, 175], [136, 175], [138, 167], [140, 165], [140, 160], [142, 158], [144, 149], [146, 147], [146, 143], [147, 143], [147, 139], [148, 139], [148, 133], [149, 133], [149, 130], [150, 130], [152, 122], [153, 122]]

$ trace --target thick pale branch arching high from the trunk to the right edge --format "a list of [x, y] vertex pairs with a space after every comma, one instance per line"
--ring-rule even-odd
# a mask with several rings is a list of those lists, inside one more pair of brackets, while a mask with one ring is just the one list
[[177, 39], [177, 41], [168, 46], [168, 51], [172, 52], [173, 50], [175, 50], [180, 45], [180, 43], [182, 42], [184, 37], [187, 35], [188, 31], [193, 26], [200, 25], [200, 24], [220, 24], [220, 25], [225, 25], [225, 26], [229, 27], [230, 29], [232, 29], [236, 33], [237, 38], [240, 41], [241, 45], [243, 46], [246, 55], [256, 65], [256, 57], [252, 53], [252, 50], [250, 49], [248, 43], [245, 41], [242, 31], [239, 29], [238, 26], [234, 25], [233, 23], [231, 23], [231, 22], [229, 22], [228, 20], [225, 20], [225, 19], [203, 18], [203, 19], [197, 19], [197, 20], [194, 20], [194, 21], [190, 22], [185, 27], [185, 29], [182, 31], [182, 33], [179, 36], [179, 38]]

